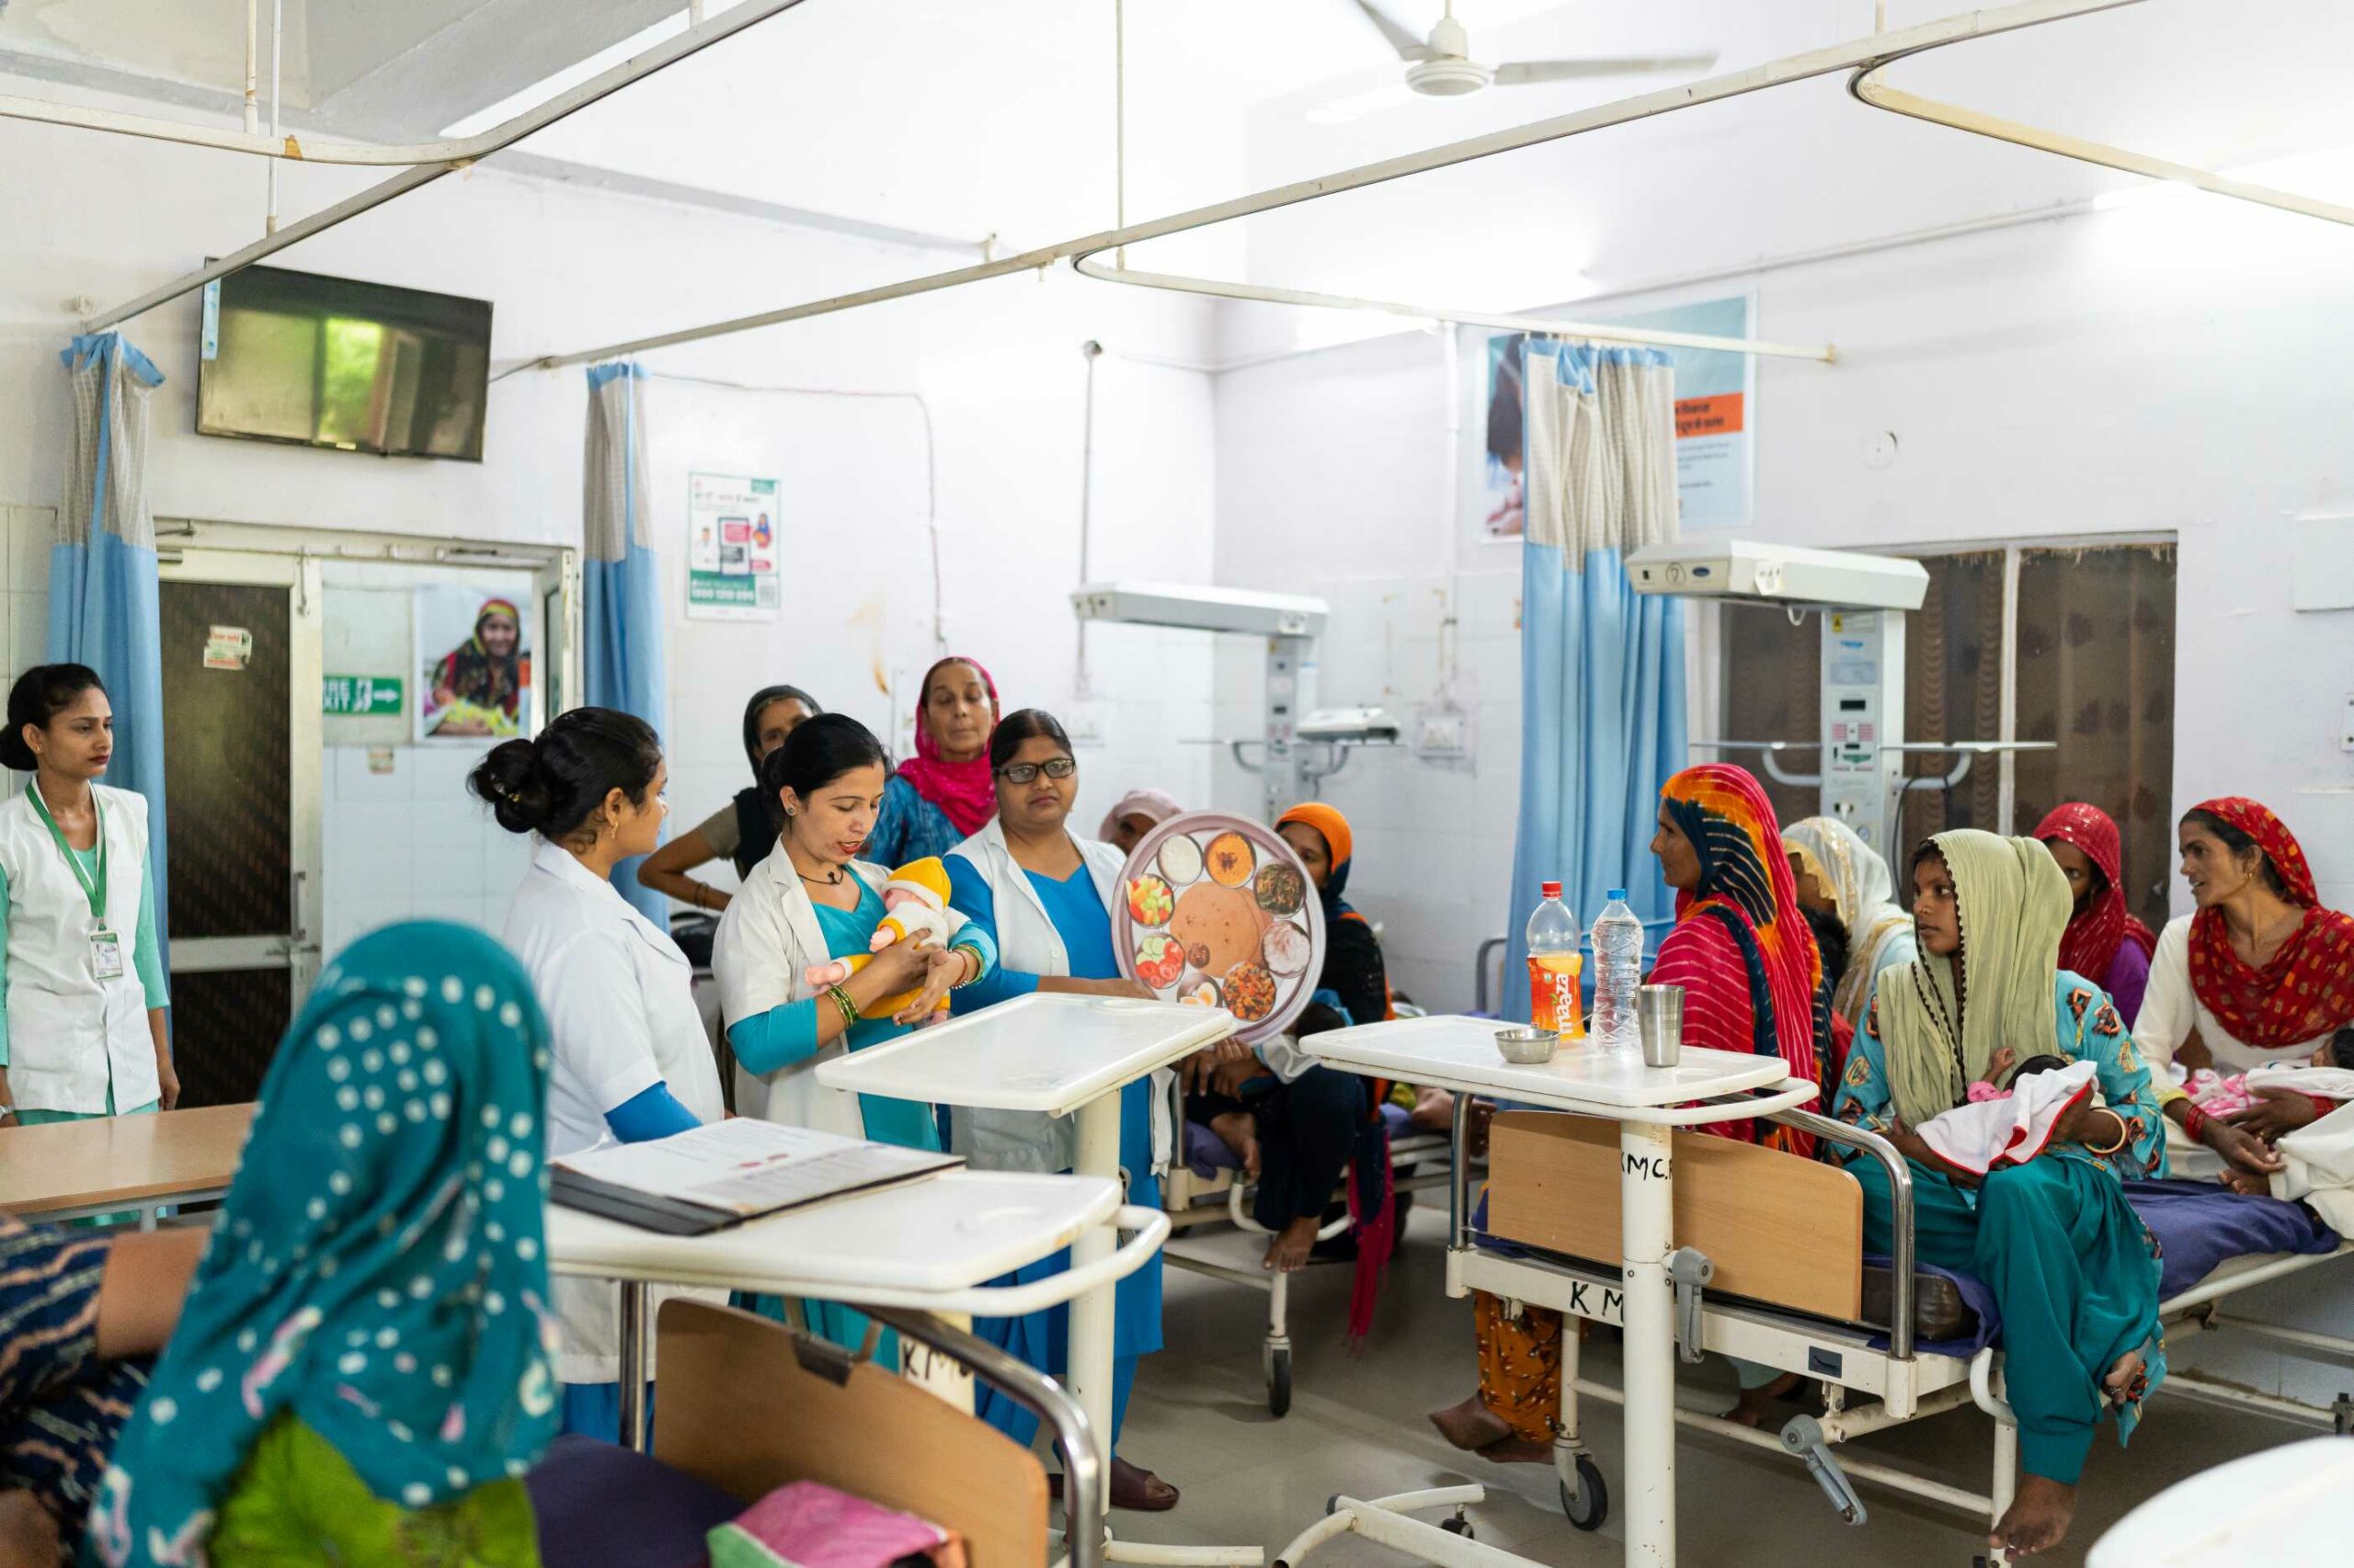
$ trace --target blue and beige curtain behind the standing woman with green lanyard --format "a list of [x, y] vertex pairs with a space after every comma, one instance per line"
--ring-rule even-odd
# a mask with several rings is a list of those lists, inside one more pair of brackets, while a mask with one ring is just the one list
[[169, 956], [162, 800], [162, 622], [155, 605], [155, 518], [146, 504], [148, 396], [162, 372], [120, 332], [59, 353], [73, 381], [66, 504], [49, 551], [49, 664], [99, 671], [115, 709], [106, 782], [148, 798], [160, 958]]

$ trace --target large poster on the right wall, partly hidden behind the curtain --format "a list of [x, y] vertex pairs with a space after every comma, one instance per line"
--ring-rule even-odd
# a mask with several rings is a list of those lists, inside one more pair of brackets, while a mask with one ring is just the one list
[[[1655, 327], [1707, 337], [1751, 337], [1751, 299], [1702, 299], [1660, 311], [1608, 311], [1601, 306], [1554, 306], [1544, 315], [1615, 327]], [[1521, 537], [1521, 334], [1497, 332], [1485, 353], [1485, 405], [1476, 428], [1485, 431], [1478, 494], [1471, 504], [1488, 539]], [[1676, 494], [1681, 525], [1693, 530], [1742, 527], [1756, 469], [1751, 426], [1756, 419], [1756, 356], [1725, 348], [1667, 348], [1676, 363]]]

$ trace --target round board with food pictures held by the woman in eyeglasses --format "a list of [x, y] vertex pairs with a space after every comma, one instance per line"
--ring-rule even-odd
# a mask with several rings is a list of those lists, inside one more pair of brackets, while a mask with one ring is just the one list
[[1121, 869], [1113, 954], [1163, 1001], [1224, 1008], [1243, 1043], [1290, 1026], [1323, 972], [1323, 906], [1299, 855], [1243, 817], [1193, 812]]

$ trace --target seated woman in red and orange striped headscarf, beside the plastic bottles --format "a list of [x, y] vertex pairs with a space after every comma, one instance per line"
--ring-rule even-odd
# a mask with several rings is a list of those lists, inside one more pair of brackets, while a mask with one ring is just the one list
[[[1676, 928], [1660, 942], [1653, 984], [1683, 986], [1683, 1038], [1714, 1050], [1780, 1055], [1794, 1078], [1815, 1078], [1831, 1022], [1815, 935], [1798, 913], [1796, 883], [1773, 803], [1744, 770], [1685, 768], [1660, 791], [1650, 852], [1676, 890]], [[1813, 1154], [1813, 1137], [1758, 1121], [1714, 1123], [1702, 1132]], [[1551, 1462], [1561, 1413], [1561, 1314], [1523, 1307], [1507, 1314], [1492, 1295], [1474, 1297], [1481, 1387], [1431, 1413], [1457, 1448], [1499, 1464]], [[1740, 1368], [1744, 1406], [1777, 1373]]]

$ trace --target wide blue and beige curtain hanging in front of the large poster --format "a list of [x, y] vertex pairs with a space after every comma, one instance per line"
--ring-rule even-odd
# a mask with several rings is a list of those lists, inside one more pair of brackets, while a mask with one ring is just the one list
[[1674, 895], [1650, 857], [1660, 786], [1685, 765], [1683, 600], [1638, 596], [1627, 551], [1676, 539], [1676, 391], [1657, 348], [1528, 339], [1523, 363], [1521, 824], [1504, 1012], [1528, 1017], [1525, 928], [1558, 881], [1584, 928], [1610, 888], [1650, 928]]

